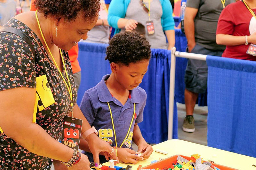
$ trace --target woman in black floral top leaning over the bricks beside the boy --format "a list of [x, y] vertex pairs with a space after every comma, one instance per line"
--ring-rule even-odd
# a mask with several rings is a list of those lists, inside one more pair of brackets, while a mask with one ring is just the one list
[[[98, 18], [99, 0], [36, 0], [35, 4], [38, 11], [17, 15], [4, 26], [22, 30], [33, 49], [15, 34], [0, 33], [0, 98], [5, 99], [0, 102], [0, 169], [48, 170], [52, 159], [69, 169], [89, 169], [85, 155], [57, 141], [64, 116], [72, 112], [83, 120], [80, 145], [88, 146], [95, 165], [100, 152], [117, 159], [114, 149], [93, 133], [76, 104], [66, 52], [87, 38]], [[46, 98], [37, 89], [43, 85], [36, 83], [41, 76], [46, 81]]]

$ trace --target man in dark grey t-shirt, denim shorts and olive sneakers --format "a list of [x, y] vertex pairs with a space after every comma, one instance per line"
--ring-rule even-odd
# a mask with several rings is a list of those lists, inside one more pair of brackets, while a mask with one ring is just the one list
[[[188, 0], [185, 9], [184, 29], [188, 52], [221, 56], [225, 46], [216, 44], [216, 29], [221, 11], [234, 0]], [[231, 17], [231, 16], [230, 16]], [[194, 107], [198, 93], [207, 89], [208, 68], [206, 61], [188, 59], [185, 73], [185, 105], [187, 116], [182, 129], [194, 132]]]

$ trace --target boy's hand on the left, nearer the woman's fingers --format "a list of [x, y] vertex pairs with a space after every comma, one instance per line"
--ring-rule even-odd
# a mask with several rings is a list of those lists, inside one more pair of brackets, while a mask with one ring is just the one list
[[117, 148], [117, 156], [120, 161], [132, 164], [136, 164], [138, 160], [144, 159], [143, 157], [136, 155], [136, 152], [129, 148]]

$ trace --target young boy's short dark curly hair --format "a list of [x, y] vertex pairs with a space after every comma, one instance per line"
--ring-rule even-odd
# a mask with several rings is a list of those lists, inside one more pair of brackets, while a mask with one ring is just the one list
[[105, 60], [109, 63], [123, 63], [128, 66], [129, 63], [149, 60], [151, 49], [144, 35], [126, 31], [116, 34], [109, 41], [106, 54]]

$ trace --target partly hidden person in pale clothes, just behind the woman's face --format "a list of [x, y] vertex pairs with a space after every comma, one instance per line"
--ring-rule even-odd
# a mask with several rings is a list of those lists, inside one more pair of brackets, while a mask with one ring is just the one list
[[105, 1], [100, 0], [99, 18], [92, 30], [88, 32], [88, 38], [82, 41], [108, 44], [109, 34], [110, 30], [108, 25], [108, 9], [106, 7]]

